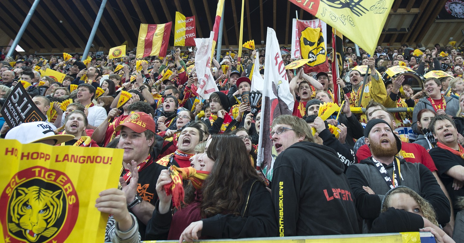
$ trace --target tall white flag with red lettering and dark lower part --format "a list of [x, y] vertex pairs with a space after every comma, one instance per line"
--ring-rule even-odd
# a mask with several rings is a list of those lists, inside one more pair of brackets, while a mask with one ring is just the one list
[[263, 169], [264, 175], [269, 180], [272, 180], [274, 159], [271, 156], [273, 144], [268, 138], [269, 134], [271, 134], [270, 127], [274, 118], [280, 115], [292, 114], [295, 100], [290, 93], [285, 64], [280, 55], [276, 32], [272, 28], [267, 28], [266, 40], [263, 105], [261, 108], [257, 165]]

